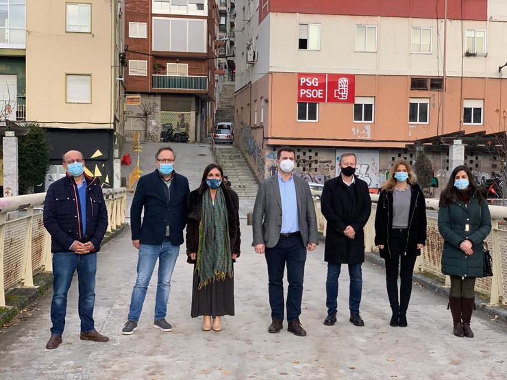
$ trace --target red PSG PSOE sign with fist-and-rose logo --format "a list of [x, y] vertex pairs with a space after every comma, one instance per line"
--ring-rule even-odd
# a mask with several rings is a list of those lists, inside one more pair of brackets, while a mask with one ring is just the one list
[[356, 75], [299, 74], [297, 101], [306, 103], [354, 103]]

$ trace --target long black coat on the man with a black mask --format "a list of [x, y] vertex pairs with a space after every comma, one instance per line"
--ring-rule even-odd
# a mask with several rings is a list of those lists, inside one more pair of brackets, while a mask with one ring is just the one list
[[[324, 259], [332, 264], [360, 264], [364, 262], [364, 225], [371, 214], [371, 199], [368, 185], [358, 177], [352, 201], [347, 185], [341, 176], [324, 184], [321, 211], [327, 220]], [[345, 229], [351, 226], [356, 237], [349, 239]]]

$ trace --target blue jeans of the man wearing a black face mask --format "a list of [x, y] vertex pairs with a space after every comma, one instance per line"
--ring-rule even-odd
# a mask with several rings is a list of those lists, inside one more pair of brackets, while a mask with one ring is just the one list
[[[362, 292], [362, 271], [361, 263], [348, 264], [350, 289], [349, 289], [349, 309], [351, 313], [359, 312]], [[340, 277], [341, 264], [327, 263], [327, 279], [325, 281], [325, 292], [327, 299], [327, 313], [336, 313], [338, 311], [338, 277]]]

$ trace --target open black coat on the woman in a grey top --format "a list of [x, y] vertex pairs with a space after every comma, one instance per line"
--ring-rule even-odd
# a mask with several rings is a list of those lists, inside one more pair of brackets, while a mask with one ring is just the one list
[[[412, 187], [410, 212], [408, 214], [408, 239], [404, 246], [407, 255], [419, 256], [421, 250], [417, 244], [426, 245], [426, 202], [419, 185]], [[383, 245], [380, 257], [390, 257], [389, 233], [393, 229], [393, 192], [382, 190], [378, 198], [377, 213], [375, 215], [375, 245]]]

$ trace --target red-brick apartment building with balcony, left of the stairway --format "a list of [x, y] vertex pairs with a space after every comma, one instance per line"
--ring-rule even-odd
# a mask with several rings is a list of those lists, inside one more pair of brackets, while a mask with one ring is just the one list
[[214, 0], [126, 0], [125, 134], [160, 141], [173, 129], [208, 136], [217, 101], [219, 6]]

